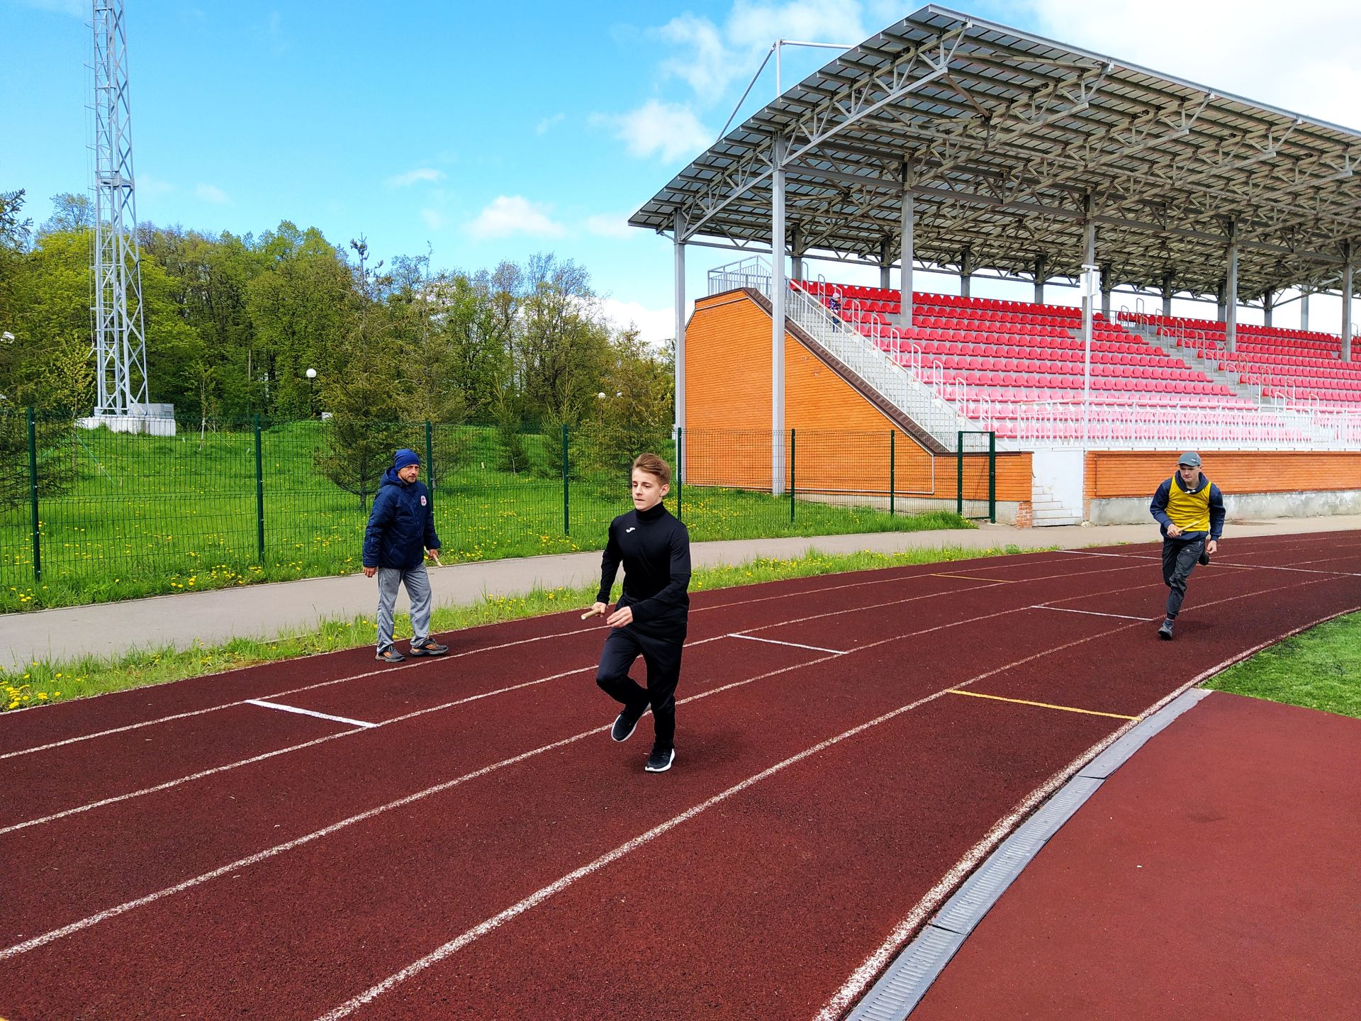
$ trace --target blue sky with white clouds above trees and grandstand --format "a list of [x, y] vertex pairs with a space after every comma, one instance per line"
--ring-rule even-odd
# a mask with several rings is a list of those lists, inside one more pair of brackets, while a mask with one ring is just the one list
[[[660, 339], [672, 249], [625, 227], [629, 214], [712, 142], [776, 38], [855, 44], [919, 5], [127, 0], [137, 212], [207, 233], [291, 219], [338, 245], [365, 236], [381, 259], [429, 248], [445, 270], [551, 250], [591, 271], [621, 325]], [[1289, 19], [1259, 0], [951, 5], [1361, 123], [1350, 0], [1300, 0]], [[26, 189], [35, 221], [49, 196], [87, 189], [88, 19], [87, 1], [0, 0], [0, 191]], [[832, 57], [785, 54], [787, 82]], [[773, 91], [768, 68], [739, 117]], [[691, 299], [729, 257], [690, 250]], [[1028, 297], [1021, 285], [974, 293], [989, 289]], [[1316, 328], [1328, 308], [1315, 299]]]

